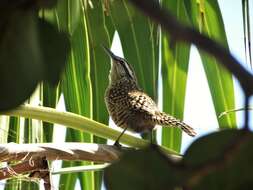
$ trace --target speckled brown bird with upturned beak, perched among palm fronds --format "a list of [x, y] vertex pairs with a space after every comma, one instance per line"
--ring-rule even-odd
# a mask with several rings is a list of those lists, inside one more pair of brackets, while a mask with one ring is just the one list
[[133, 67], [126, 59], [115, 55], [104, 45], [102, 47], [111, 58], [105, 104], [114, 123], [123, 128], [115, 145], [119, 145], [126, 130], [136, 133], [151, 132], [156, 125], [177, 127], [189, 136], [196, 135], [192, 127], [158, 109], [152, 98], [139, 87]]

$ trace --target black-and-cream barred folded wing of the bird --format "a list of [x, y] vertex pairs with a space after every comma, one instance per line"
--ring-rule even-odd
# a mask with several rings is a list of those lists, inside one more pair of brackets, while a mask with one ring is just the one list
[[149, 115], [155, 114], [158, 110], [156, 103], [147, 94], [140, 91], [128, 93], [130, 107], [136, 111], [146, 112]]

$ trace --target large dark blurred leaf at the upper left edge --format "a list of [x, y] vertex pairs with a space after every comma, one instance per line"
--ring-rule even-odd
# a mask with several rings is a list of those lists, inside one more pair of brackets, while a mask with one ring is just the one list
[[[35, 11], [13, 11], [0, 22], [0, 110], [23, 103], [45, 79], [57, 84], [68, 39]], [[50, 44], [49, 44], [50, 42]]]

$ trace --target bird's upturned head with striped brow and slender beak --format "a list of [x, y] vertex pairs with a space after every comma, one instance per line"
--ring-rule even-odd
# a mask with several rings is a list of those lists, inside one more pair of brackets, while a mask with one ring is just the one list
[[105, 52], [111, 57], [111, 70], [109, 74], [110, 83], [117, 82], [122, 78], [133, 80], [137, 82], [135, 73], [131, 65], [127, 63], [124, 58], [114, 55], [110, 49], [102, 46]]

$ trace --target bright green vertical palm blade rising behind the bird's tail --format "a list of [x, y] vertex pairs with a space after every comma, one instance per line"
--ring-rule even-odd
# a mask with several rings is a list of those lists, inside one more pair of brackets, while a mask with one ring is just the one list
[[[180, 21], [189, 24], [183, 1], [162, 1], [162, 6], [170, 9]], [[175, 42], [164, 32], [162, 32], [161, 43], [163, 111], [178, 119], [183, 119], [190, 45]], [[162, 129], [163, 146], [180, 152], [181, 139], [180, 129]]]

